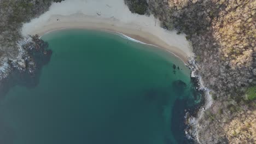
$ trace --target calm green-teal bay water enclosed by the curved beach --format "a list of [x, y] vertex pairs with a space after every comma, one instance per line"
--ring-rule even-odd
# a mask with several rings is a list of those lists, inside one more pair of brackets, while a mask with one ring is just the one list
[[101, 31], [42, 39], [51, 59], [34, 86], [21, 82], [1, 100], [0, 143], [189, 143], [185, 109], [200, 94], [177, 57]]

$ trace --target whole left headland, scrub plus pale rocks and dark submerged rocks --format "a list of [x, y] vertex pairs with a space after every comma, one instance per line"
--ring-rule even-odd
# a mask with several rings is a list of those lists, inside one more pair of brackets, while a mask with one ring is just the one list
[[0, 98], [22, 82], [22, 77], [33, 77], [27, 84], [36, 85], [37, 71], [49, 61], [51, 52], [37, 35], [23, 38], [21, 26], [43, 14], [53, 2], [60, 0], [0, 1]]

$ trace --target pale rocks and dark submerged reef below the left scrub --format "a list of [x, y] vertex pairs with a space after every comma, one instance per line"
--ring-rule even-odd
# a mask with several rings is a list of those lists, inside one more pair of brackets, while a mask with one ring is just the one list
[[[28, 36], [19, 41], [18, 46], [18, 57], [2, 62], [0, 99], [3, 99], [9, 88], [15, 85], [36, 86], [40, 69], [50, 61], [52, 52], [47, 50], [48, 44], [39, 39], [38, 35]], [[30, 79], [27, 79], [28, 77]]]

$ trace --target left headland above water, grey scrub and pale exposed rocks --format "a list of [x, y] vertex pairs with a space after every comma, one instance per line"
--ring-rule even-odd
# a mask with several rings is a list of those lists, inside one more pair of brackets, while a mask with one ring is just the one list
[[[33, 61], [27, 55], [32, 47], [38, 47], [35, 37], [22, 38], [22, 22], [47, 11], [53, 2], [61, 0], [2, 0], [0, 1], [0, 80], [5, 79], [11, 69], [32, 71]], [[38, 37], [37, 37], [38, 38]], [[26, 46], [30, 45], [29, 49]], [[30, 61], [30, 62], [28, 62]]]

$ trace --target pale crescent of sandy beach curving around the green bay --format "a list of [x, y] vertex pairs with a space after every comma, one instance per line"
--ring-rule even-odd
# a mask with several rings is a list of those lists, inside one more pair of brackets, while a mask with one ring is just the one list
[[43, 35], [62, 28], [101, 29], [123, 33], [174, 53], [184, 62], [193, 56], [184, 34], [166, 31], [153, 16], [132, 14], [123, 0], [65, 0], [24, 23], [22, 35]]

